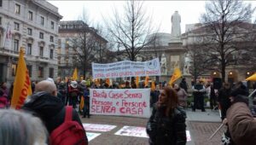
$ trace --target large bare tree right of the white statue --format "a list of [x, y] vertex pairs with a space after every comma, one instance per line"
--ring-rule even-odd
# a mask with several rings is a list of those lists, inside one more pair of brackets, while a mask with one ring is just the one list
[[254, 8], [241, 0], [212, 0], [206, 4], [206, 13], [201, 15], [207, 34], [204, 36], [205, 59], [208, 68], [215, 67], [225, 81], [226, 67], [239, 65], [242, 51], [246, 47], [238, 44], [245, 42], [252, 33], [253, 25], [247, 21], [252, 18]]

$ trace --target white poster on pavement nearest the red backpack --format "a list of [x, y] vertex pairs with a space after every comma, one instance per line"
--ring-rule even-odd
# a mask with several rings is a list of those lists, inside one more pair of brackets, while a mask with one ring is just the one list
[[102, 131], [107, 132], [113, 130], [116, 125], [98, 125], [98, 124], [83, 124], [85, 131]]

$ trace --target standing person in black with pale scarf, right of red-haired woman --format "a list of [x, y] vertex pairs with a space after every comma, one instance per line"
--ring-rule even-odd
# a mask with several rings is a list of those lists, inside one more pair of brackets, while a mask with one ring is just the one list
[[202, 81], [197, 81], [197, 83], [192, 87], [192, 90], [194, 96], [194, 106], [192, 107], [192, 111], [195, 112], [196, 108], [201, 108], [201, 112], [206, 112], [204, 106], [204, 95], [207, 90], [202, 84]]

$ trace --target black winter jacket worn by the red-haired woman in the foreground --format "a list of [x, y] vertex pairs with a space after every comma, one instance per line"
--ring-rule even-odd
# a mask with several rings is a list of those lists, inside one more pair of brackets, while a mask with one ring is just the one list
[[166, 116], [166, 106], [154, 104], [152, 115], [148, 120], [147, 133], [150, 145], [183, 145], [186, 144], [186, 113], [182, 107], [172, 110]]

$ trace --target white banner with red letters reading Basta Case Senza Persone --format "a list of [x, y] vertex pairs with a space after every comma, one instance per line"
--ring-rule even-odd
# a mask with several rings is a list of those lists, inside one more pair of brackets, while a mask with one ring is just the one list
[[149, 118], [150, 89], [90, 89], [90, 113]]

